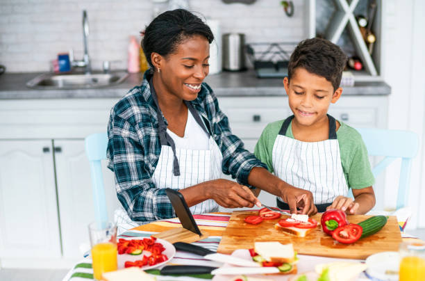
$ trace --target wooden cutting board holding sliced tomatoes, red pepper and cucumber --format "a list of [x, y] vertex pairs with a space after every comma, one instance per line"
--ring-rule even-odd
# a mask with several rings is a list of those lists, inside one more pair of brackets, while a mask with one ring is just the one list
[[[382, 230], [375, 234], [356, 241], [353, 244], [342, 244], [335, 241], [317, 227], [306, 237], [297, 237], [281, 230], [276, 230], [275, 220], [263, 220], [258, 225], [250, 225], [244, 222], [247, 216], [257, 215], [258, 211], [234, 211], [224, 231], [217, 252], [231, 254], [236, 249], [253, 248], [255, 241], [279, 241], [281, 243], [292, 243], [294, 249], [301, 255], [317, 255], [322, 257], [342, 257], [347, 259], [366, 259], [376, 252], [398, 251], [401, 243], [399, 224], [395, 216], [388, 218], [387, 224]], [[322, 214], [311, 216], [320, 222]], [[353, 215], [348, 216], [350, 223], [360, 221], [370, 216]], [[288, 218], [282, 216], [281, 218]]]

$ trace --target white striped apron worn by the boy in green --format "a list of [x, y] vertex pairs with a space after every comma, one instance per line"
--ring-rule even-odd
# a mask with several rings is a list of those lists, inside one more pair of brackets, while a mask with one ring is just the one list
[[[292, 118], [293, 115], [283, 122], [274, 142], [274, 174], [292, 186], [311, 191], [317, 206], [347, 195], [349, 187], [342, 170], [335, 119], [328, 115], [328, 140], [309, 143], [285, 136]], [[279, 204], [283, 203], [282, 198], [277, 199], [278, 205], [283, 205]]]

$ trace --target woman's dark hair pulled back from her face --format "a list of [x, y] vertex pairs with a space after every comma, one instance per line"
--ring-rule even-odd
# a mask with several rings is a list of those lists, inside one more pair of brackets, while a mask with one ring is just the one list
[[153, 52], [161, 56], [173, 54], [183, 40], [193, 35], [202, 35], [210, 43], [214, 40], [210, 27], [188, 10], [169, 10], [158, 15], [144, 31], [141, 44], [149, 65], [153, 68]]

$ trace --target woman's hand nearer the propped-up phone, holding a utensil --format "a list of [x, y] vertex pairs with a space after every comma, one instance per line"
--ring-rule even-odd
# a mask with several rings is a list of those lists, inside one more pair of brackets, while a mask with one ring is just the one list
[[205, 192], [208, 198], [225, 208], [261, 206], [260, 201], [247, 187], [228, 179], [214, 179], [206, 182]]

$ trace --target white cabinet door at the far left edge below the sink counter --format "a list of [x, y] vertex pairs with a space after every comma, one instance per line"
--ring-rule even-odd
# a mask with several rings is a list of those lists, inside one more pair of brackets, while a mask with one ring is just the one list
[[0, 140], [0, 256], [60, 257], [51, 140]]

